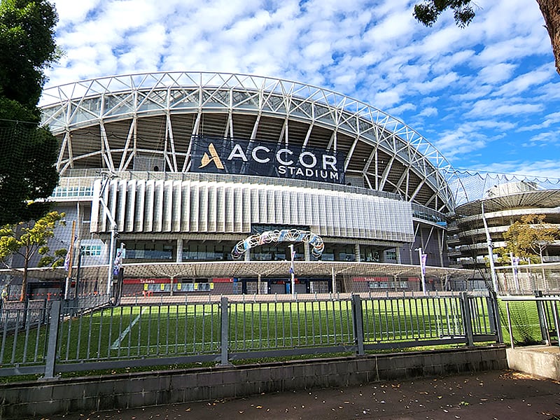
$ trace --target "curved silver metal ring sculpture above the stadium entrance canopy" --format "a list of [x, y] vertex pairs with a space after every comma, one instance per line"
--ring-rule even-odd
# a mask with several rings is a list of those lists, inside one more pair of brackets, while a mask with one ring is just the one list
[[313, 232], [309, 232], [309, 230], [276, 229], [251, 235], [237, 242], [232, 249], [232, 257], [237, 259], [249, 249], [255, 248], [255, 246], [269, 244], [271, 242], [308, 242], [309, 245], [312, 246], [311, 255], [315, 258], [319, 258], [325, 249], [323, 239]]

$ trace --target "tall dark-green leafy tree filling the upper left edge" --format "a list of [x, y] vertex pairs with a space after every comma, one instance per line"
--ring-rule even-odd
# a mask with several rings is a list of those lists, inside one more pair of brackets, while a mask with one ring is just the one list
[[58, 142], [38, 127], [45, 69], [59, 57], [57, 13], [46, 0], [0, 0], [0, 225], [46, 214]]

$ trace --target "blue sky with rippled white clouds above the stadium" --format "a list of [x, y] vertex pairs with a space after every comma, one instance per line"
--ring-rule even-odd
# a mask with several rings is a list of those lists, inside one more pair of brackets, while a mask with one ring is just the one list
[[[417, 0], [419, 1], [419, 0]], [[399, 118], [456, 169], [560, 178], [560, 76], [534, 0], [477, 0], [466, 29], [406, 0], [52, 0], [47, 87], [223, 71], [335, 90]]]

